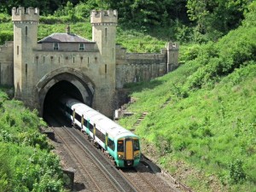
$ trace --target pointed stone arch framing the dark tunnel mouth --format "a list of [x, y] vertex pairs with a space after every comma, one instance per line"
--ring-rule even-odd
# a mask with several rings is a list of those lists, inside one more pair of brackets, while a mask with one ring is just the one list
[[[63, 82], [68, 82], [67, 85], [70, 86], [70, 90], [76, 90], [69, 93], [70, 96], [77, 97], [81, 102], [91, 106], [95, 84], [81, 71], [70, 67], [62, 67], [44, 75], [36, 85], [41, 116], [44, 114], [44, 102], [49, 90], [53, 89], [56, 84], [63, 84]], [[61, 93], [57, 93], [56, 96], [58, 94]], [[78, 96], [75, 96], [76, 94]]]

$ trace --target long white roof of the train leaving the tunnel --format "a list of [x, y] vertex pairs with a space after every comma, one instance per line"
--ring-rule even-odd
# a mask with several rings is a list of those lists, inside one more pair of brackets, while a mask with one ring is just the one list
[[84, 115], [84, 119], [90, 119], [90, 123], [96, 124], [96, 127], [105, 132], [108, 132], [109, 137], [127, 137], [127, 135], [131, 137], [137, 137], [131, 131], [126, 130], [121, 125], [115, 123], [113, 120], [108, 119], [102, 113], [97, 112], [95, 109], [90, 108], [82, 102], [79, 102], [75, 99], [66, 99], [66, 103], [72, 109], [75, 109], [77, 113], [81, 116]]

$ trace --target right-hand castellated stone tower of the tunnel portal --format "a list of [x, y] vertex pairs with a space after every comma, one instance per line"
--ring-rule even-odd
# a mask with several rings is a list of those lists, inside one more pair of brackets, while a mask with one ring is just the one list
[[[115, 93], [115, 68], [116, 68], [116, 26], [118, 22], [118, 13], [116, 10], [92, 10], [90, 12], [90, 23], [92, 26], [92, 41], [96, 42], [101, 55], [102, 85], [104, 95], [108, 98], [109, 103], [113, 104]], [[107, 95], [106, 95], [107, 93]], [[95, 97], [98, 97], [95, 95]], [[102, 97], [99, 96], [99, 97]], [[111, 108], [108, 106], [107, 108]]]

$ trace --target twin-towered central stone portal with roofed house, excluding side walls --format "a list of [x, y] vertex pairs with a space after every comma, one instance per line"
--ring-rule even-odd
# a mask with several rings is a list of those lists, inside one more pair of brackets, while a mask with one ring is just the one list
[[116, 11], [91, 12], [92, 41], [69, 26], [38, 41], [38, 9], [14, 8], [12, 20], [15, 98], [41, 115], [61, 95], [113, 115]]

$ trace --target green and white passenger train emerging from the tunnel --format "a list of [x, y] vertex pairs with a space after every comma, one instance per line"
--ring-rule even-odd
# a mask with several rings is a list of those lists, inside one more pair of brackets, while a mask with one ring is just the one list
[[59, 108], [73, 125], [102, 148], [115, 166], [134, 167], [139, 164], [141, 150], [137, 135], [76, 99], [63, 96]]

